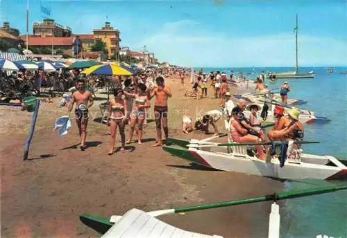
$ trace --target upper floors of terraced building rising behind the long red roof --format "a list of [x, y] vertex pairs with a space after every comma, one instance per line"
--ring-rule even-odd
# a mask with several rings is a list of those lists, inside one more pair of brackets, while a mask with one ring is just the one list
[[44, 19], [43, 22], [34, 22], [33, 35], [35, 37], [71, 37], [71, 28], [62, 26], [53, 19]]

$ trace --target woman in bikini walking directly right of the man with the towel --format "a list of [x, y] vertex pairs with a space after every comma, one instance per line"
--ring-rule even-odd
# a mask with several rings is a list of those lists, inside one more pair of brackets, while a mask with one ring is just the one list
[[124, 91], [121, 88], [113, 89], [113, 95], [115, 95], [115, 98], [110, 100], [108, 106], [108, 116], [111, 127], [111, 149], [110, 152], [108, 152], [108, 155], [113, 154], [115, 151], [117, 127], [119, 128], [119, 134], [121, 136], [121, 152], [124, 152], [126, 143], [124, 128], [126, 125], [126, 116], [128, 115], [128, 107], [126, 100], [124, 100]]

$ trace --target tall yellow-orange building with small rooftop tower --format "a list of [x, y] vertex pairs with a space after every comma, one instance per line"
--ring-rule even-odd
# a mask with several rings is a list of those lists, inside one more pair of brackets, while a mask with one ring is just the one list
[[95, 41], [100, 39], [106, 44], [108, 59], [111, 57], [115, 57], [116, 60], [119, 59], [119, 42], [121, 42], [119, 30], [110, 26], [110, 22], [105, 22], [105, 26], [101, 29], [93, 30], [93, 35]]

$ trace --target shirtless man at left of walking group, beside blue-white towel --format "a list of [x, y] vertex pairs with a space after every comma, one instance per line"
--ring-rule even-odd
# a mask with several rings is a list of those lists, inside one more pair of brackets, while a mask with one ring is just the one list
[[88, 108], [93, 104], [92, 95], [89, 91], [85, 91], [85, 81], [77, 80], [76, 90], [72, 94], [71, 101], [68, 107], [69, 115], [76, 102], [75, 118], [78, 126], [78, 130], [81, 136], [80, 149], [85, 150], [85, 138], [87, 137], [87, 124], [88, 124]]

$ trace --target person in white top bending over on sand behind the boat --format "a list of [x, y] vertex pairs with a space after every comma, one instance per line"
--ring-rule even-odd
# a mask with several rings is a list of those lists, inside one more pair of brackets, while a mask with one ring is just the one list
[[223, 114], [219, 110], [208, 111], [207, 113], [205, 113], [204, 116], [196, 118], [194, 129], [205, 131], [205, 134], [209, 134], [208, 126], [209, 126], [209, 124], [211, 124], [213, 129], [214, 129], [213, 136], [218, 136], [219, 135], [219, 131], [218, 131], [216, 122], [219, 119], [221, 119], [222, 116], [223, 116]]

